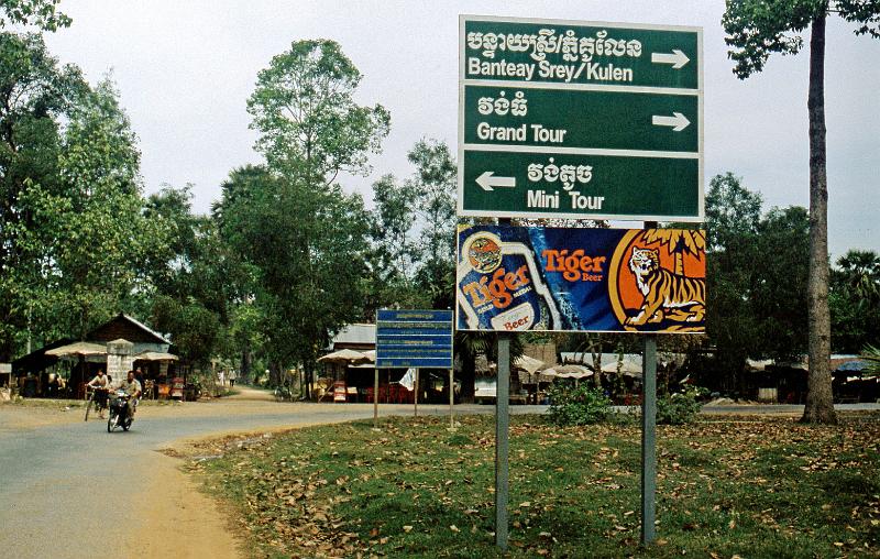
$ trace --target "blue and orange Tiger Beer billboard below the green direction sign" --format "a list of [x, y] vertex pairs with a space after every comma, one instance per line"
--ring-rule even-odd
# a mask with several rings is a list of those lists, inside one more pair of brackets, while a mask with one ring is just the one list
[[705, 232], [460, 226], [459, 330], [705, 331]]

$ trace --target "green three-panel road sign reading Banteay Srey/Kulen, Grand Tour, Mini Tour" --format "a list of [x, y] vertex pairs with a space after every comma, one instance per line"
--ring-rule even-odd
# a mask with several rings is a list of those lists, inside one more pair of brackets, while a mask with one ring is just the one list
[[702, 30], [460, 18], [459, 213], [702, 221]]

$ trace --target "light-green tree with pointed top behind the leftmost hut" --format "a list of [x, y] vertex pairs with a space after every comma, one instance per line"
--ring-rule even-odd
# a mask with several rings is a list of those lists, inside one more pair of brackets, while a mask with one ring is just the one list
[[146, 289], [138, 272], [165, 230], [141, 212], [140, 153], [119, 94], [106, 79], [70, 111], [58, 158], [61, 188], [34, 184], [30, 240], [45, 246], [43, 286], [54, 321], [82, 338]]

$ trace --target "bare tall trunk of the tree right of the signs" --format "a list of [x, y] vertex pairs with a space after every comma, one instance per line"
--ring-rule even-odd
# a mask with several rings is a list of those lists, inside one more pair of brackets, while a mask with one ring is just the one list
[[804, 423], [836, 424], [828, 314], [828, 183], [825, 149], [825, 13], [810, 37], [810, 376]]

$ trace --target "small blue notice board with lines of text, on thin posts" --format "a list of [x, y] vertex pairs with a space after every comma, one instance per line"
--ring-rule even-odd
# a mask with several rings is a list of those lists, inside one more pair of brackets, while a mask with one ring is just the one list
[[380, 309], [376, 368], [452, 369], [452, 311]]

